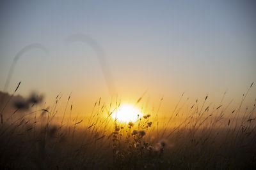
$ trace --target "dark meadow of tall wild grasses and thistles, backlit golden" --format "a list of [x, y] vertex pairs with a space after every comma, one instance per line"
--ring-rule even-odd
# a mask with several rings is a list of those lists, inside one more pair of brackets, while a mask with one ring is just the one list
[[208, 96], [186, 106], [182, 94], [164, 117], [160, 99], [156, 110], [120, 122], [122, 99], [106, 104], [99, 98], [81, 118], [72, 113], [70, 96], [65, 106], [58, 95], [44, 108], [38, 94], [18, 99], [18, 85], [12, 95], [0, 96], [0, 168], [256, 169], [255, 102], [243, 107], [251, 88], [253, 83], [232, 111], [228, 104], [209, 105]]

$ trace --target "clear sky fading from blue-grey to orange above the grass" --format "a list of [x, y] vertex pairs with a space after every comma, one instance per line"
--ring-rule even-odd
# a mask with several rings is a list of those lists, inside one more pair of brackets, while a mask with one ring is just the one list
[[[225, 102], [238, 103], [256, 81], [255, 7], [253, 1], [1, 1], [0, 89], [15, 55], [40, 43], [49, 54], [36, 48], [22, 54], [6, 91], [22, 81], [17, 94], [35, 90], [47, 103], [72, 92], [80, 113], [99, 97], [113, 97], [108, 83], [127, 103], [144, 92], [154, 106], [164, 97], [166, 111], [182, 92], [191, 103], [206, 95], [218, 103], [227, 91]], [[100, 46], [103, 69], [95, 46], [67, 43], [77, 34]], [[254, 88], [247, 104], [255, 97]]]

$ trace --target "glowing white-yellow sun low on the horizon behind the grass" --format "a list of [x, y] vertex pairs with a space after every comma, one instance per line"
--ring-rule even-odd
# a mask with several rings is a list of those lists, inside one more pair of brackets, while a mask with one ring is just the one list
[[135, 122], [141, 117], [141, 111], [136, 108], [136, 106], [132, 106], [130, 104], [122, 104], [115, 113], [111, 115], [111, 117], [119, 122]]

